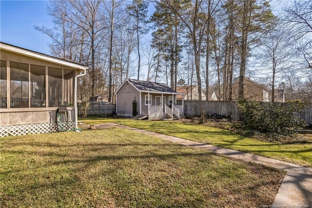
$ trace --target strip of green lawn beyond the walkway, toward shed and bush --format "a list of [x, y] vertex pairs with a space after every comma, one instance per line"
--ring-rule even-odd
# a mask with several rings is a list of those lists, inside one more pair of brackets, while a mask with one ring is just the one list
[[250, 139], [231, 131], [204, 125], [185, 124], [176, 121], [137, 121], [127, 119], [88, 119], [87, 124], [115, 122], [148, 131], [176, 136], [201, 143], [222, 146], [238, 151], [273, 158], [301, 166], [312, 167], [312, 143], [278, 144]]

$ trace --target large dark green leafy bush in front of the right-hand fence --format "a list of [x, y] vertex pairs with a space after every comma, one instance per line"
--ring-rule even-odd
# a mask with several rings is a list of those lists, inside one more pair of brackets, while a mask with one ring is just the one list
[[305, 102], [292, 101], [286, 104], [265, 103], [242, 100], [238, 108], [243, 116], [244, 129], [261, 133], [291, 136], [298, 128], [304, 127], [305, 121], [295, 117], [307, 105]]

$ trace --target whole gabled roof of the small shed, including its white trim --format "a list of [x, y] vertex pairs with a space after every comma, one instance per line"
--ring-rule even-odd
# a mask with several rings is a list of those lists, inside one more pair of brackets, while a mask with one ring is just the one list
[[137, 91], [139, 92], [150, 92], [150, 93], [163, 93], [163, 94], [181, 94], [184, 93], [177, 93], [175, 90], [171, 89], [169, 86], [167, 86], [164, 83], [153, 83], [153, 82], [147, 82], [147, 81], [141, 81], [141, 80], [133, 80], [133, 79], [126, 79], [117, 89], [118, 90], [123, 86], [125, 82], [129, 82], [132, 84]]

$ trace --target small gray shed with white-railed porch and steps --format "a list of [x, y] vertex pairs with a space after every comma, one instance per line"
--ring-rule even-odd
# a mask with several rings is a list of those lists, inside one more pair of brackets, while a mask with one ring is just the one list
[[166, 84], [126, 79], [116, 91], [116, 111], [125, 111], [125, 116], [133, 115], [132, 102], [137, 101], [137, 114], [149, 119], [162, 119], [165, 116], [179, 117], [183, 104], [176, 105], [177, 93]]

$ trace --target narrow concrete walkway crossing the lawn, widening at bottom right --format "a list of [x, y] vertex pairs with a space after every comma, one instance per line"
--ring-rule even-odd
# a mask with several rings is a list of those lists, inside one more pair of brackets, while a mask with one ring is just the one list
[[97, 128], [105, 128], [110, 126], [125, 128], [131, 131], [136, 131], [149, 136], [154, 136], [163, 140], [178, 143], [184, 146], [190, 146], [217, 154], [227, 155], [247, 162], [259, 163], [265, 166], [274, 167], [287, 171], [286, 176], [275, 196], [272, 207], [276, 208], [312, 208], [312, 168], [294, 165], [250, 153], [240, 152], [232, 149], [227, 149], [219, 146], [207, 145], [204, 143], [194, 142], [190, 140], [180, 139], [173, 136], [159, 134], [156, 132], [145, 131], [125, 125], [114, 123], [95, 125]]

